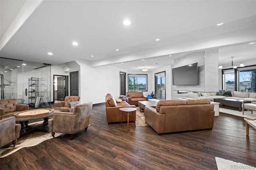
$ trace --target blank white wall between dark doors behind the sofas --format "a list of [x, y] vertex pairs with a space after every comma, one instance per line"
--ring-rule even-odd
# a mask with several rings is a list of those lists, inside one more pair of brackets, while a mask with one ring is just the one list
[[91, 67], [90, 61], [83, 59], [76, 62], [80, 65], [80, 103], [88, 101], [92, 101], [93, 104], [104, 103], [107, 93], [111, 93], [115, 98], [119, 97], [119, 72], [127, 73], [127, 70], [113, 66]]

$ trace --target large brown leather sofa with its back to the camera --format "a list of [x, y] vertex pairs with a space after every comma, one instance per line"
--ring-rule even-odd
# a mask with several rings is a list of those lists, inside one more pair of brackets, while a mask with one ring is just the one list
[[156, 109], [145, 107], [145, 122], [157, 134], [212, 129], [214, 105], [210, 100], [159, 101]]

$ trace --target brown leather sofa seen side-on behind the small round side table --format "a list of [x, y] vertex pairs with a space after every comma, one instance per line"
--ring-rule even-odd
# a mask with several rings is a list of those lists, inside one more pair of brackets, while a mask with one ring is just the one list
[[[105, 98], [105, 105], [106, 105], [106, 115], [107, 115], [107, 121], [108, 124], [110, 123], [117, 123], [117, 122], [127, 122], [127, 116], [123, 117], [122, 120], [122, 111], [119, 110], [119, 108], [122, 107], [135, 107], [135, 105], [129, 105], [126, 103], [125, 99], [121, 99], [121, 102], [116, 102], [116, 99], [108, 93]], [[134, 117], [132, 114], [129, 115], [129, 121], [134, 121], [136, 120], [136, 111], [133, 113]]]

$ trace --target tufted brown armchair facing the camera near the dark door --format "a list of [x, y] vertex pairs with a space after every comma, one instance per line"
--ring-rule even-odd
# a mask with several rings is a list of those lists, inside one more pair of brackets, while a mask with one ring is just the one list
[[54, 103], [53, 108], [62, 112], [70, 112], [70, 109], [79, 104], [80, 96], [66, 96], [64, 101]]

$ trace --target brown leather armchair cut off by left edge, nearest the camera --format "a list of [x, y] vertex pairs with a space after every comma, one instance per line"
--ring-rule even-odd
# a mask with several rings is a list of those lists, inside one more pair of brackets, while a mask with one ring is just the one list
[[13, 146], [20, 137], [20, 124], [15, 123], [15, 117], [8, 117], [0, 120], [0, 147], [12, 142]]

